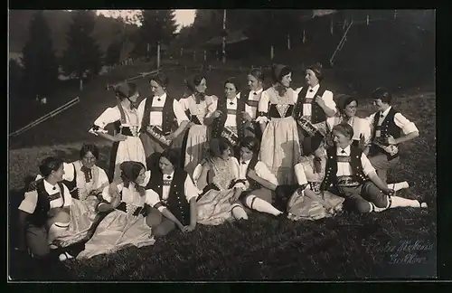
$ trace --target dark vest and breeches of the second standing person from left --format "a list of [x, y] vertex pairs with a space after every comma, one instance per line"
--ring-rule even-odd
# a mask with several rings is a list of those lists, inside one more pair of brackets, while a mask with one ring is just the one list
[[[147, 127], [150, 126], [150, 114], [151, 112], [162, 112], [162, 125], [158, 125], [158, 127], [162, 128], [162, 130], [160, 130], [159, 128], [154, 128], [155, 132], [158, 133], [161, 136], [167, 136], [169, 134], [171, 134], [172, 132], [174, 132], [176, 130], [176, 118], [175, 118], [175, 114], [174, 114], [174, 109], [173, 109], [173, 104], [174, 104], [174, 99], [171, 98], [168, 94], [166, 94], [166, 99], [165, 99], [165, 104], [164, 107], [153, 107], [153, 101], [154, 99], [158, 99], [155, 96], [153, 97], [149, 97], [146, 99], [145, 102], [145, 110], [143, 113], [143, 119], [141, 121], [141, 134], [140, 134], [140, 138], [141, 141], [143, 142], [143, 147], [145, 147], [145, 152], [146, 152], [146, 160], [149, 158], [149, 156], [152, 155], [152, 153], [149, 152], [149, 148], [152, 148], [149, 146], [149, 139], [151, 141], [153, 141], [155, 144], [157, 144], [158, 146], [162, 147], [162, 149], [167, 148], [168, 146], [165, 146], [162, 142], [160, 142], [158, 139], [156, 139], [155, 137], [151, 136], [150, 134], [147, 133]], [[170, 144], [171, 147], [171, 144]], [[149, 168], [150, 166], [148, 165], [147, 168]]]

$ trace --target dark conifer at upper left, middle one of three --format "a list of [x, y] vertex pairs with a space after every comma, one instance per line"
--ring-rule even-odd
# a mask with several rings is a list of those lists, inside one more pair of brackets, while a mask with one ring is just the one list
[[91, 37], [95, 14], [87, 10], [76, 11], [68, 32], [68, 45], [63, 56], [63, 68], [67, 75], [83, 79], [99, 74], [102, 68], [102, 52]]

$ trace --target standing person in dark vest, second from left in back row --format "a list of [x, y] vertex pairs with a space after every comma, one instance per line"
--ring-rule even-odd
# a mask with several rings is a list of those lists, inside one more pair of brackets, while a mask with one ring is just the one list
[[[175, 138], [181, 137], [189, 122], [179, 102], [168, 95], [168, 77], [163, 72], [151, 77], [149, 85], [153, 96], [143, 99], [137, 109], [147, 168], [152, 154], [163, 152], [170, 145], [178, 147], [174, 145]], [[182, 143], [182, 137], [180, 140]]]

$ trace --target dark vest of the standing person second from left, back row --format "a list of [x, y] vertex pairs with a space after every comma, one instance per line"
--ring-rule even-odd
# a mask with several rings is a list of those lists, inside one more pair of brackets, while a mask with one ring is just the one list
[[146, 99], [143, 120], [141, 121], [141, 129], [142, 131], [145, 131], [146, 127], [149, 126], [151, 111], [158, 111], [163, 112], [163, 122], [161, 125], [162, 130], [165, 134], [169, 134], [175, 130], [175, 115], [173, 109], [174, 99], [166, 94], [165, 105], [163, 109], [161, 109], [160, 107], [152, 107], [152, 102], [154, 101], [154, 99], [155, 96]]

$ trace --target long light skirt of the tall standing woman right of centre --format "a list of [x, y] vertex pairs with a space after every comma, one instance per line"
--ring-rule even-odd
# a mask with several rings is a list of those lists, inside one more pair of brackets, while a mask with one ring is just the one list
[[262, 134], [259, 160], [278, 178], [278, 184], [295, 184], [294, 165], [301, 156], [297, 122], [292, 117], [271, 118]]

